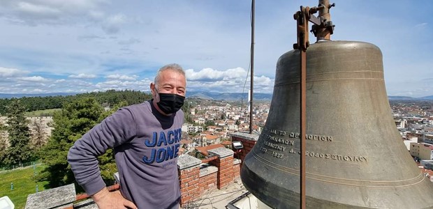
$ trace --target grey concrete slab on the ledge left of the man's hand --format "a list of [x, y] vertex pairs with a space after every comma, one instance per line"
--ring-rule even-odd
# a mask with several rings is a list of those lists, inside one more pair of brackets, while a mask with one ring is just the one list
[[70, 184], [27, 196], [26, 209], [30, 208], [68, 208], [75, 201], [75, 185]]

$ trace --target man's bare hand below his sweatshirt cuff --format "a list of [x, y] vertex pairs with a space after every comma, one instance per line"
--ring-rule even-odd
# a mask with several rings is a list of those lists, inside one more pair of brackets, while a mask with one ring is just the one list
[[136, 209], [137, 206], [127, 199], [124, 199], [120, 191], [115, 192], [108, 191], [107, 187], [101, 189], [101, 191], [96, 192], [96, 194], [91, 196], [98, 208], [100, 209], [110, 209], [110, 208], [131, 208]]

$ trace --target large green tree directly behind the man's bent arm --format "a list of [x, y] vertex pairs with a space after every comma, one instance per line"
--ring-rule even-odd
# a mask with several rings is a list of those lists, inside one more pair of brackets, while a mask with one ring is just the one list
[[[126, 102], [115, 105], [111, 111], [104, 111], [94, 98], [80, 98], [65, 104], [61, 111], [54, 113], [54, 130], [47, 146], [41, 149], [41, 160], [47, 167], [38, 179], [47, 180], [51, 187], [75, 183], [73, 172], [67, 162], [69, 148], [94, 125], [101, 123], [103, 118], [124, 104]], [[98, 161], [105, 183], [114, 182], [113, 173], [117, 168], [112, 150], [107, 150], [104, 155], [98, 157]]]

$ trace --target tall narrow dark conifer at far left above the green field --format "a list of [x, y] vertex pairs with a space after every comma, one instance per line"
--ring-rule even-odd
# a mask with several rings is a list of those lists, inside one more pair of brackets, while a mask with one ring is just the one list
[[24, 116], [25, 109], [20, 103], [20, 100], [13, 100], [7, 107], [6, 113], [6, 130], [9, 135], [9, 148], [6, 150], [4, 162], [6, 164], [21, 164], [28, 162], [34, 157], [33, 151], [30, 149], [31, 132], [29, 129], [29, 121]]

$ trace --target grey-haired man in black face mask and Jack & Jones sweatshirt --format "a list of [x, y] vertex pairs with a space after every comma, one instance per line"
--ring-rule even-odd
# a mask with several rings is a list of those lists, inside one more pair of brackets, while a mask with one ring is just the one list
[[[152, 100], [123, 107], [75, 141], [68, 162], [99, 208], [179, 208], [177, 152], [186, 92], [177, 64], [159, 69]], [[108, 192], [96, 157], [114, 148], [120, 192]]]

